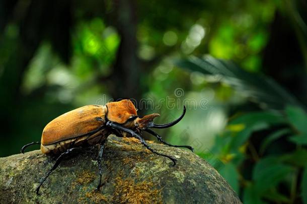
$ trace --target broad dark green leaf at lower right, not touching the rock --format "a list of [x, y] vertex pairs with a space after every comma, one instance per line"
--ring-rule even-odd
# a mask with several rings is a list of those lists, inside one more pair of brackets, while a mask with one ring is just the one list
[[260, 194], [265, 193], [269, 188], [276, 186], [291, 171], [293, 168], [282, 164], [277, 157], [267, 157], [260, 160], [253, 170], [256, 191]]

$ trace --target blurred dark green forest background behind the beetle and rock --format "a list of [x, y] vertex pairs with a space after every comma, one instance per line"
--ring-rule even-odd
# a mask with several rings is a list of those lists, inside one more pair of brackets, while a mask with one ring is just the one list
[[73, 108], [171, 98], [139, 114], [163, 123], [186, 102], [159, 133], [244, 203], [307, 203], [305, 2], [4, 0], [0, 17], [0, 156]]

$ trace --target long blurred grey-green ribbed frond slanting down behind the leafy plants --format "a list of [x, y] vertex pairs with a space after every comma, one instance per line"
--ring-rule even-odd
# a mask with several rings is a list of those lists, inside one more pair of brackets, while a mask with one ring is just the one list
[[212, 56], [175, 61], [179, 67], [205, 75], [213, 75], [257, 102], [262, 108], [283, 109], [287, 104], [301, 106], [297, 99], [272, 79], [244, 71], [233, 62], [216, 59]]

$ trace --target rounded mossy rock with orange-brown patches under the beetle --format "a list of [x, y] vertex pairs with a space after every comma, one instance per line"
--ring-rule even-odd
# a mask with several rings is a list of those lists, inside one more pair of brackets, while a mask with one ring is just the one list
[[40, 151], [0, 158], [0, 203], [241, 203], [228, 183], [189, 150], [149, 142], [150, 153], [133, 138], [110, 136], [103, 155], [103, 187], [98, 184], [98, 147], [61, 162], [40, 189], [55, 158]]

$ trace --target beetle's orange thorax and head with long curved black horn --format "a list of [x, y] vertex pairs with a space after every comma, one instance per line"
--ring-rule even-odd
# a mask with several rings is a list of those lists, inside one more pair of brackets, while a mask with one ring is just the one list
[[167, 124], [155, 124], [153, 120], [155, 117], [160, 116], [158, 113], [153, 113], [150, 115], [145, 115], [144, 117], [138, 117], [136, 113], [136, 108], [130, 100], [121, 100], [118, 102], [110, 102], [106, 104], [108, 112], [107, 119], [122, 126], [131, 129], [143, 130], [149, 127], [152, 128], [167, 128], [177, 124], [184, 116], [186, 108], [184, 107], [182, 115], [174, 120], [173, 122]]

